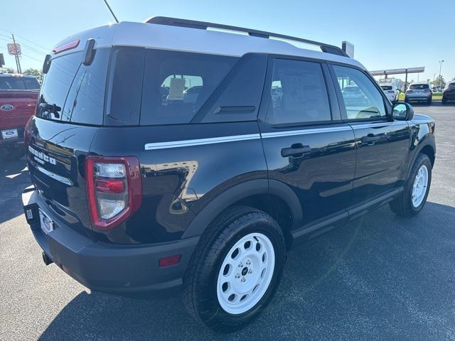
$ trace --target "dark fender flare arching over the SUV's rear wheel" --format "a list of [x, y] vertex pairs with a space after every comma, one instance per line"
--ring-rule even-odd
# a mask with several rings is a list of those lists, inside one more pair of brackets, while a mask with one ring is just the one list
[[292, 229], [299, 227], [302, 221], [302, 210], [299, 198], [289, 186], [277, 180], [255, 179], [235, 185], [211, 200], [188, 225], [181, 239], [200, 236], [215, 217], [235, 202], [251, 195], [272, 194], [287, 203], [291, 210]]

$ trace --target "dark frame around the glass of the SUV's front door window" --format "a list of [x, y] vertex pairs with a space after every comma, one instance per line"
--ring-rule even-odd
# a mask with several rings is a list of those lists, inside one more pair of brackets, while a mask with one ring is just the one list
[[[373, 76], [370, 75], [370, 72], [367, 72], [367, 71], [363, 70], [362, 68], [357, 67], [355, 65], [349, 65], [349, 64], [345, 64], [345, 63], [328, 62], [327, 65], [328, 65], [328, 70], [331, 74], [333, 86], [335, 87], [336, 96], [338, 97], [338, 107], [340, 109], [341, 120], [343, 122], [352, 123], [352, 122], [369, 122], [369, 121], [374, 121], [374, 122], [394, 121], [394, 119], [392, 117], [392, 107], [390, 106], [390, 102], [385, 97], [385, 93], [380, 89], [380, 85], [378, 85], [378, 83], [375, 81]], [[370, 80], [370, 82], [373, 83], [373, 85], [378, 90], [380, 96], [382, 97], [382, 103], [384, 104], [384, 109], [385, 109], [385, 117], [370, 117], [368, 119], [348, 119], [348, 114], [346, 112], [346, 104], [344, 102], [343, 94], [341, 93], [340, 86], [338, 85], [338, 78], [336, 77], [336, 72], [333, 69], [333, 65], [338, 65], [338, 66], [342, 66], [342, 67], [350, 67], [351, 69], [355, 69], [355, 70], [362, 72], [363, 75], [365, 75]]]

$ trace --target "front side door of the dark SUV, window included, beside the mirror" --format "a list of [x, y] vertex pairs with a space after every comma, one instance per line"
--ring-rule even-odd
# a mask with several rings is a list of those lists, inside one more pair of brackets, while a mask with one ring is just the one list
[[[402, 185], [410, 150], [410, 127], [395, 121], [392, 108], [363, 70], [331, 65], [341, 117], [353, 127], [357, 153], [353, 204]], [[348, 98], [344, 87], [358, 87], [361, 97]]]

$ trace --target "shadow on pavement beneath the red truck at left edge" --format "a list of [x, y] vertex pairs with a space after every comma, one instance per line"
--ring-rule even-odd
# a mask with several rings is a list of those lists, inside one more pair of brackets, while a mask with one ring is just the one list
[[25, 158], [0, 160], [0, 224], [23, 214], [21, 193], [31, 185]]

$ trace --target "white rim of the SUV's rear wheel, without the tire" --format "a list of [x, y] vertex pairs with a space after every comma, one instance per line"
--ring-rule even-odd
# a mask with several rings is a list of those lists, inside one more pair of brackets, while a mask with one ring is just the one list
[[226, 254], [218, 273], [218, 303], [238, 315], [253, 308], [269, 288], [275, 267], [270, 239], [261, 233], [242, 237]]

